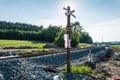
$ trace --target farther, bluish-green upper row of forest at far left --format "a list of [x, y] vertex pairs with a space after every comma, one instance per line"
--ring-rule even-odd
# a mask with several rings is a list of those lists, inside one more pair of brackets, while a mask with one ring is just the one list
[[43, 26], [36, 26], [25, 23], [11, 23], [6, 21], [0, 21], [0, 30], [22, 30], [22, 31], [39, 31]]

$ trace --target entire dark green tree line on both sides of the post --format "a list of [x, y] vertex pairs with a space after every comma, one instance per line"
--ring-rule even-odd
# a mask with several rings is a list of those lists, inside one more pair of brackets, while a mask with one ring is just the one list
[[[71, 41], [74, 46], [79, 42], [93, 42], [89, 33], [83, 31], [79, 22], [72, 23], [71, 28]], [[37, 40], [54, 42], [58, 46], [63, 46], [65, 33], [66, 30], [63, 26], [49, 25], [47, 28], [44, 28], [43, 26], [25, 23], [0, 21], [0, 39]]]

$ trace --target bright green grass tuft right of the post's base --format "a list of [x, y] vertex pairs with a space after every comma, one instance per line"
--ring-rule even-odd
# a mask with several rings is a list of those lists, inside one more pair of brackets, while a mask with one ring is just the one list
[[92, 69], [85, 65], [71, 66], [71, 72], [76, 72], [79, 74], [92, 73]]

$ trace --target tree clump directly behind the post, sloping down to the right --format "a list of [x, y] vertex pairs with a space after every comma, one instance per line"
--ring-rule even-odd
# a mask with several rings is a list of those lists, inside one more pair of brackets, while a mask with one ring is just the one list
[[[71, 23], [71, 46], [76, 47], [79, 43], [93, 43], [92, 37], [88, 32], [84, 31], [79, 22]], [[54, 43], [59, 46], [64, 46], [64, 34], [67, 33], [63, 28], [57, 33]]]

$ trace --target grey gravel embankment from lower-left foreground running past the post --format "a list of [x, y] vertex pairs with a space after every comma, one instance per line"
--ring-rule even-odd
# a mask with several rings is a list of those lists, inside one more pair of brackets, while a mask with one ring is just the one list
[[[104, 48], [96, 49], [99, 51]], [[71, 60], [87, 56], [88, 53], [89, 50], [73, 52]], [[0, 60], [0, 80], [53, 80], [53, 76], [58, 73], [45, 71], [43, 66], [60, 66], [64, 63], [66, 63], [66, 53]]]

